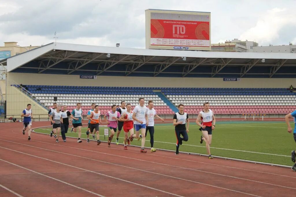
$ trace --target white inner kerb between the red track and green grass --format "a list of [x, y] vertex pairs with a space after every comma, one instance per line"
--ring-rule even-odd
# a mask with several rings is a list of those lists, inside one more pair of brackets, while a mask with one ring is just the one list
[[[32, 128], [31, 129], [31, 132], [34, 132], [34, 133], [38, 133], [36, 131], [34, 131], [35, 129], [40, 129], [40, 128], [46, 128], [46, 127], [49, 127], [49, 126], [44, 126], [44, 127], [36, 127], [36, 128]], [[44, 134], [44, 135], [49, 135], [47, 133], [39, 133], [39, 134]], [[76, 137], [68, 137], [67, 138], [76, 138]], [[91, 140], [91, 139], [90, 139]], [[91, 141], [96, 141], [96, 140], [91, 140]], [[107, 141], [102, 141], [104, 143], [107, 143]], [[115, 142], [111, 142], [112, 144], [115, 144]], [[123, 145], [122, 143], [119, 143], [121, 145]], [[137, 145], [132, 145], [130, 144], [129, 146], [133, 146], [133, 147], [138, 147], [138, 148], [141, 148], [141, 146], [137, 146]], [[144, 148], [150, 148], [150, 147], [144, 147]], [[161, 151], [168, 151], [168, 152], [176, 152], [176, 151], [173, 151], [173, 150], [168, 150], [168, 149], [163, 149], [163, 148], [156, 148], [157, 150], [161, 150]], [[199, 155], [199, 156], [206, 156], [208, 157], [207, 154], [201, 154], [201, 153], [192, 153], [192, 152], [185, 152], [185, 151], [179, 151], [179, 153], [182, 153], [182, 154], [189, 154], [189, 155]], [[213, 155], [212, 155], [213, 156]], [[269, 166], [277, 166], [277, 167], [284, 167], [284, 168], [291, 168], [291, 166], [286, 166], [286, 165], [281, 165], [281, 164], [272, 164], [272, 163], [265, 163], [265, 162], [256, 162], [256, 161], [250, 161], [250, 160], [244, 160], [244, 159], [236, 159], [236, 158], [230, 158], [230, 157], [222, 157], [222, 156], [213, 156], [215, 158], [219, 158], [219, 159], [228, 159], [228, 160], [233, 160], [233, 161], [238, 161], [238, 162], [247, 162], [247, 163], [253, 163], [253, 164], [263, 164], [263, 165], [269, 165]]]

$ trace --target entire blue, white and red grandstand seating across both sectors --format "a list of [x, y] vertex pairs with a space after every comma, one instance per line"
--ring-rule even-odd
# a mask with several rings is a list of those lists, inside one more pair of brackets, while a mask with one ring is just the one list
[[[205, 101], [210, 102], [216, 114], [286, 114], [296, 109], [295, 93], [286, 88], [140, 88], [140, 87], [96, 87], [96, 86], [48, 86], [26, 85], [36, 99], [52, 106], [54, 97], [58, 105], [73, 109], [82, 104], [87, 112], [91, 103], [99, 104], [102, 113], [110, 110], [112, 104], [121, 101], [138, 105], [139, 97], [154, 101], [158, 114], [174, 112], [155, 94], [161, 91], [174, 105], [184, 104], [189, 114], [202, 110]], [[132, 108], [133, 108], [132, 107]]]

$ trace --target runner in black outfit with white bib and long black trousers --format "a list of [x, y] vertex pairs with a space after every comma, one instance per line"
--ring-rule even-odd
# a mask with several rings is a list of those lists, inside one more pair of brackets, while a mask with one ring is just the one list
[[[176, 155], [179, 154], [179, 146], [182, 145], [182, 141], [188, 141], [188, 132], [189, 132], [189, 119], [188, 114], [184, 112], [184, 105], [178, 105], [179, 112], [174, 114], [173, 125], [175, 126], [175, 133], [177, 137], [176, 143]], [[187, 125], [186, 125], [187, 123]], [[181, 138], [181, 135], [183, 138]]]

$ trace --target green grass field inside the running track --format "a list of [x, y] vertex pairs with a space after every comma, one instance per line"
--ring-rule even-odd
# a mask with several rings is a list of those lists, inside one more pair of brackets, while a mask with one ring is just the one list
[[[294, 124], [291, 123], [291, 127]], [[104, 140], [104, 128], [100, 127], [100, 139]], [[51, 127], [36, 129], [39, 133], [49, 133]], [[86, 127], [82, 129], [82, 138], [86, 138]], [[78, 137], [77, 133], [67, 136]], [[189, 127], [189, 140], [183, 142], [179, 151], [188, 151], [207, 154], [205, 142], [200, 144], [201, 132], [194, 122]], [[119, 142], [123, 143], [124, 133], [120, 133]], [[90, 139], [92, 137], [90, 136]], [[60, 139], [62, 141], [62, 139]], [[113, 138], [115, 142], [115, 138]], [[176, 150], [176, 135], [172, 124], [158, 124], [155, 126], [154, 148]], [[94, 142], [93, 142], [94, 143]], [[140, 145], [141, 141], [134, 140], [133, 145]], [[105, 145], [105, 144], [101, 144]], [[106, 144], [107, 146], [107, 144]], [[117, 145], [112, 145], [117, 146]], [[150, 146], [149, 132], [145, 146]], [[296, 149], [293, 134], [287, 132], [287, 125], [283, 122], [254, 122], [254, 121], [229, 121], [217, 122], [213, 131], [211, 154], [257, 162], [266, 162], [292, 166], [291, 150]]]

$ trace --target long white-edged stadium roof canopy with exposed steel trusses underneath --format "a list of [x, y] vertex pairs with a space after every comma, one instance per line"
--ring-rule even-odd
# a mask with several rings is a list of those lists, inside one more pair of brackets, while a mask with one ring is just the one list
[[40, 74], [296, 78], [296, 54], [293, 53], [128, 49], [50, 43], [0, 60], [1, 64], [7, 66], [8, 72]]

